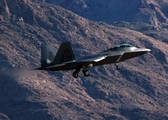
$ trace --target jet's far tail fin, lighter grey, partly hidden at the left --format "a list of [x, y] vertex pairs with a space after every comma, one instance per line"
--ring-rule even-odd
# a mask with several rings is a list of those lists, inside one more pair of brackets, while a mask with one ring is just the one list
[[52, 63], [56, 55], [56, 51], [51, 45], [41, 46], [41, 67], [45, 67]]

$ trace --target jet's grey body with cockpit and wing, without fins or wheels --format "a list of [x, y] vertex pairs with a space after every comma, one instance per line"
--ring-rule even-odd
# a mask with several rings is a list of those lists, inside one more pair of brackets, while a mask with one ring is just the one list
[[137, 48], [129, 44], [121, 44], [117, 47], [105, 50], [103, 52], [85, 56], [73, 61], [63, 62], [61, 64], [50, 64], [41, 70], [72, 70], [78, 68], [87, 68], [89, 66], [99, 66], [104, 64], [118, 63], [130, 58], [134, 58], [149, 52], [150, 49]]

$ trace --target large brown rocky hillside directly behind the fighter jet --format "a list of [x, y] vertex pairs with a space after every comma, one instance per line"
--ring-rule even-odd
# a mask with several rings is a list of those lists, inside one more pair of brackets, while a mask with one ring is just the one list
[[[0, 119], [168, 119], [166, 27], [93, 22], [33, 0], [2, 0], [0, 6]], [[58, 49], [65, 41], [77, 57], [120, 43], [152, 51], [121, 63], [120, 71], [112, 64], [91, 68], [90, 77], [29, 71], [40, 65], [41, 44]]]

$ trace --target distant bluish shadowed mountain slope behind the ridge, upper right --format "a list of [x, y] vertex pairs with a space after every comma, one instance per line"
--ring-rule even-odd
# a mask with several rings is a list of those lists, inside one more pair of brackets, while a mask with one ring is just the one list
[[93, 21], [143, 22], [160, 27], [168, 22], [166, 0], [44, 0]]

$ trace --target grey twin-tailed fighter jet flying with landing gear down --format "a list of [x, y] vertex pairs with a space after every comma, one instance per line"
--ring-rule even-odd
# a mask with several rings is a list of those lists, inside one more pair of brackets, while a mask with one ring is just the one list
[[74, 70], [72, 76], [77, 78], [82, 69], [84, 76], [89, 76], [89, 67], [116, 63], [116, 69], [120, 69], [117, 63], [150, 52], [150, 49], [137, 48], [130, 44], [121, 44], [103, 52], [75, 58], [70, 42], [61, 43], [58, 52], [51, 45], [41, 46], [41, 67], [36, 70]]

